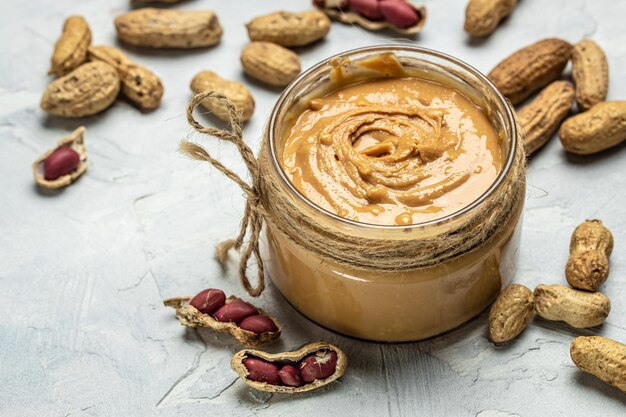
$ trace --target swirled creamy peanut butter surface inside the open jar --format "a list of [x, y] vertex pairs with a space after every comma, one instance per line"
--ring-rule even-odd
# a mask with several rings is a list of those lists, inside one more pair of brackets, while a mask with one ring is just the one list
[[286, 134], [282, 166], [331, 212], [408, 225], [476, 200], [500, 171], [502, 151], [485, 114], [459, 91], [387, 78], [311, 100]]

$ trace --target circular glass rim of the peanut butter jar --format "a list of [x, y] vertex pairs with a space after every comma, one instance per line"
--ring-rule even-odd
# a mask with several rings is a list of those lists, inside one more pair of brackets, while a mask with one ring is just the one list
[[[439, 59], [442, 59], [444, 61], [450, 62], [458, 67], [461, 67], [462, 69], [468, 71], [469, 73], [471, 73], [473, 76], [475, 76], [480, 82], [486, 84], [489, 89], [491, 90], [491, 92], [493, 93], [494, 97], [496, 98], [496, 100], [502, 104], [502, 107], [505, 109], [505, 120], [506, 123], [508, 123], [509, 128], [510, 128], [510, 146], [509, 146], [509, 152], [507, 155], [507, 159], [506, 159], [506, 163], [504, 165], [504, 167], [502, 168], [502, 170], [500, 171], [500, 173], [498, 174], [498, 176], [496, 177], [496, 179], [493, 181], [493, 183], [485, 190], [485, 192], [483, 192], [483, 194], [480, 195], [480, 197], [478, 197], [476, 200], [474, 200], [473, 202], [471, 202], [470, 204], [468, 204], [467, 206], [453, 212], [450, 213], [446, 216], [442, 216], [439, 217], [437, 219], [432, 219], [432, 220], [428, 220], [428, 221], [424, 221], [424, 222], [418, 222], [418, 223], [413, 223], [410, 225], [386, 225], [386, 224], [373, 224], [373, 223], [364, 223], [364, 222], [359, 222], [356, 220], [351, 220], [351, 219], [347, 219], [345, 217], [341, 217], [338, 214], [335, 214], [323, 207], [320, 207], [319, 205], [315, 204], [313, 201], [309, 200], [304, 194], [302, 194], [300, 192], [300, 190], [298, 190], [293, 183], [289, 180], [289, 178], [287, 178], [287, 175], [285, 174], [285, 171], [283, 170], [282, 166], [280, 165], [279, 161], [278, 161], [278, 152], [276, 149], [276, 144], [274, 141], [274, 130], [276, 127], [276, 123], [278, 122], [278, 114], [279, 114], [279, 110], [285, 105], [285, 101], [287, 100], [287, 97], [289, 97], [289, 95], [293, 92], [293, 90], [303, 81], [305, 80], [311, 73], [319, 70], [320, 68], [322, 68], [325, 65], [328, 65], [329, 62], [331, 62], [334, 59], [337, 58], [349, 58], [353, 55], [357, 55], [357, 54], [361, 54], [361, 53], [369, 53], [369, 52], [379, 52], [379, 53], [385, 53], [385, 52], [393, 52], [393, 51], [408, 51], [408, 52], [414, 52], [414, 53], [420, 53], [420, 54], [424, 54], [424, 55], [430, 55]], [[461, 217], [463, 214], [471, 211], [472, 209], [474, 209], [475, 207], [479, 206], [483, 201], [485, 201], [489, 196], [491, 196], [499, 187], [500, 185], [504, 182], [504, 179], [506, 178], [506, 176], [508, 175], [509, 171], [511, 170], [511, 167], [513, 166], [513, 163], [515, 161], [515, 153], [517, 152], [517, 147], [519, 146], [519, 141], [518, 141], [518, 133], [517, 133], [517, 124], [515, 122], [515, 116], [513, 115], [513, 110], [511, 108], [511, 106], [508, 104], [507, 100], [504, 98], [504, 96], [502, 95], [502, 93], [500, 93], [500, 91], [498, 90], [498, 88], [491, 82], [491, 80], [489, 80], [489, 78], [487, 78], [487, 76], [485, 76], [482, 72], [478, 71], [476, 68], [474, 68], [473, 66], [467, 64], [466, 62], [455, 58], [451, 55], [445, 54], [443, 52], [439, 52], [439, 51], [435, 51], [433, 49], [429, 49], [429, 48], [423, 48], [420, 46], [411, 46], [411, 45], [395, 45], [395, 44], [382, 44], [382, 45], [375, 45], [375, 46], [366, 46], [366, 47], [360, 47], [360, 48], [355, 48], [355, 49], [351, 49], [348, 51], [344, 51], [344, 52], [340, 52], [338, 54], [332, 55], [328, 58], [323, 59], [322, 61], [318, 62], [317, 64], [313, 65], [312, 67], [310, 67], [308, 70], [302, 72], [295, 80], [293, 80], [288, 86], [287, 88], [285, 88], [285, 90], [282, 92], [282, 94], [280, 95], [280, 97], [278, 98], [278, 100], [276, 101], [276, 104], [274, 105], [274, 108], [272, 109], [272, 113], [270, 114], [270, 118], [269, 118], [269, 124], [268, 124], [268, 141], [269, 141], [269, 153], [270, 153], [270, 157], [271, 157], [271, 161], [272, 161], [272, 166], [273, 168], [276, 170], [276, 172], [278, 173], [282, 183], [284, 185], [286, 185], [289, 190], [303, 203], [305, 203], [306, 205], [308, 205], [310, 208], [312, 208], [315, 211], [318, 211], [320, 213], [322, 213], [323, 215], [327, 216], [328, 218], [330, 218], [331, 220], [334, 221], [338, 221], [340, 223], [343, 223], [345, 225], [349, 225], [349, 226], [353, 226], [353, 227], [361, 227], [361, 228], [369, 228], [369, 229], [383, 229], [383, 230], [407, 230], [407, 229], [420, 229], [420, 228], [424, 228], [424, 227], [428, 227], [428, 226], [435, 226], [435, 225], [439, 225], [439, 224], [443, 224], [449, 221], [452, 221], [456, 218]]]

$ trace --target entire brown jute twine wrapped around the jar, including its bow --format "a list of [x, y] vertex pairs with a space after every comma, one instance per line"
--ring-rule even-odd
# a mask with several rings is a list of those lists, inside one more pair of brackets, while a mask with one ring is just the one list
[[[206, 99], [219, 100], [228, 108], [230, 131], [205, 127], [195, 120], [193, 110]], [[525, 157], [520, 146], [522, 133], [519, 126], [516, 126], [517, 146], [509, 174], [497, 189], [469, 213], [462, 224], [420, 239], [354, 236], [321, 224], [294, 204], [281, 186], [281, 179], [273, 172], [267, 137], [263, 139], [259, 157], [255, 157], [243, 140], [241, 116], [224, 95], [215, 91], [196, 93], [187, 107], [187, 120], [198, 132], [235, 144], [250, 172], [250, 183], [247, 183], [214, 159], [202, 146], [189, 141], [183, 141], [180, 145], [183, 153], [193, 159], [211, 163], [236, 182], [246, 195], [246, 208], [239, 235], [233, 240], [220, 243], [216, 248], [216, 255], [224, 263], [230, 249], [243, 247], [239, 277], [244, 288], [255, 297], [265, 288], [263, 261], [259, 253], [263, 222], [280, 230], [296, 244], [322, 259], [370, 271], [409, 271], [446, 262], [487, 243], [506, 227], [514, 209], [520, 203], [523, 196], [521, 190], [525, 187]], [[246, 236], [248, 242], [244, 245]], [[247, 276], [247, 266], [252, 256], [258, 265], [256, 286], [250, 283]]]

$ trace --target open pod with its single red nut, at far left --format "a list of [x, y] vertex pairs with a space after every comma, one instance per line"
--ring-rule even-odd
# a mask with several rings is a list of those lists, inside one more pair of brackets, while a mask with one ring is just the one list
[[57, 147], [44, 153], [33, 163], [35, 182], [48, 189], [65, 187], [87, 170], [85, 128], [76, 129], [59, 140]]

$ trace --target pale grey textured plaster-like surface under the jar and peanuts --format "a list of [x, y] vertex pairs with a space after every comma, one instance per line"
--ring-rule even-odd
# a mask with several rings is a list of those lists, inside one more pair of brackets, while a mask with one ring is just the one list
[[[607, 323], [572, 331], [535, 319], [514, 343], [494, 348], [485, 315], [422, 343], [354, 341], [308, 322], [273, 289], [258, 300], [285, 325], [271, 350], [328, 340], [345, 348], [342, 381], [299, 397], [257, 393], [228, 364], [239, 347], [229, 338], [185, 330], [164, 297], [217, 286], [242, 294], [234, 268], [222, 274], [214, 245], [235, 234], [243, 200], [236, 186], [208, 165], [177, 152], [192, 135], [183, 112], [188, 83], [202, 69], [244, 80], [257, 101], [246, 126], [256, 149], [278, 96], [246, 80], [239, 51], [243, 23], [307, 1], [196, 0], [225, 27], [222, 43], [180, 52], [125, 48], [162, 76], [166, 93], [155, 112], [125, 102], [81, 121], [47, 117], [38, 107], [49, 56], [63, 19], [84, 15], [95, 43], [115, 43], [113, 17], [126, 1], [44, 0], [0, 3], [0, 414], [2, 416], [174, 415], [432, 415], [617, 416], [626, 395], [579, 372], [568, 348], [578, 334], [626, 341], [626, 243], [623, 146], [590, 158], [565, 155], [553, 140], [531, 161], [520, 268], [530, 287], [564, 282], [569, 236], [585, 218], [613, 230], [616, 250], [603, 291], [613, 300]], [[597, 40], [611, 67], [609, 98], [626, 98], [626, 2], [522, 0], [484, 42], [462, 32], [465, 2], [425, 1], [429, 18], [418, 45], [439, 49], [488, 71], [513, 50], [548, 36]], [[333, 24], [327, 40], [301, 50], [303, 67], [342, 50], [392, 41]], [[34, 186], [30, 164], [79, 124], [87, 126], [91, 166], [61, 192]], [[235, 153], [211, 149], [243, 172]]]

